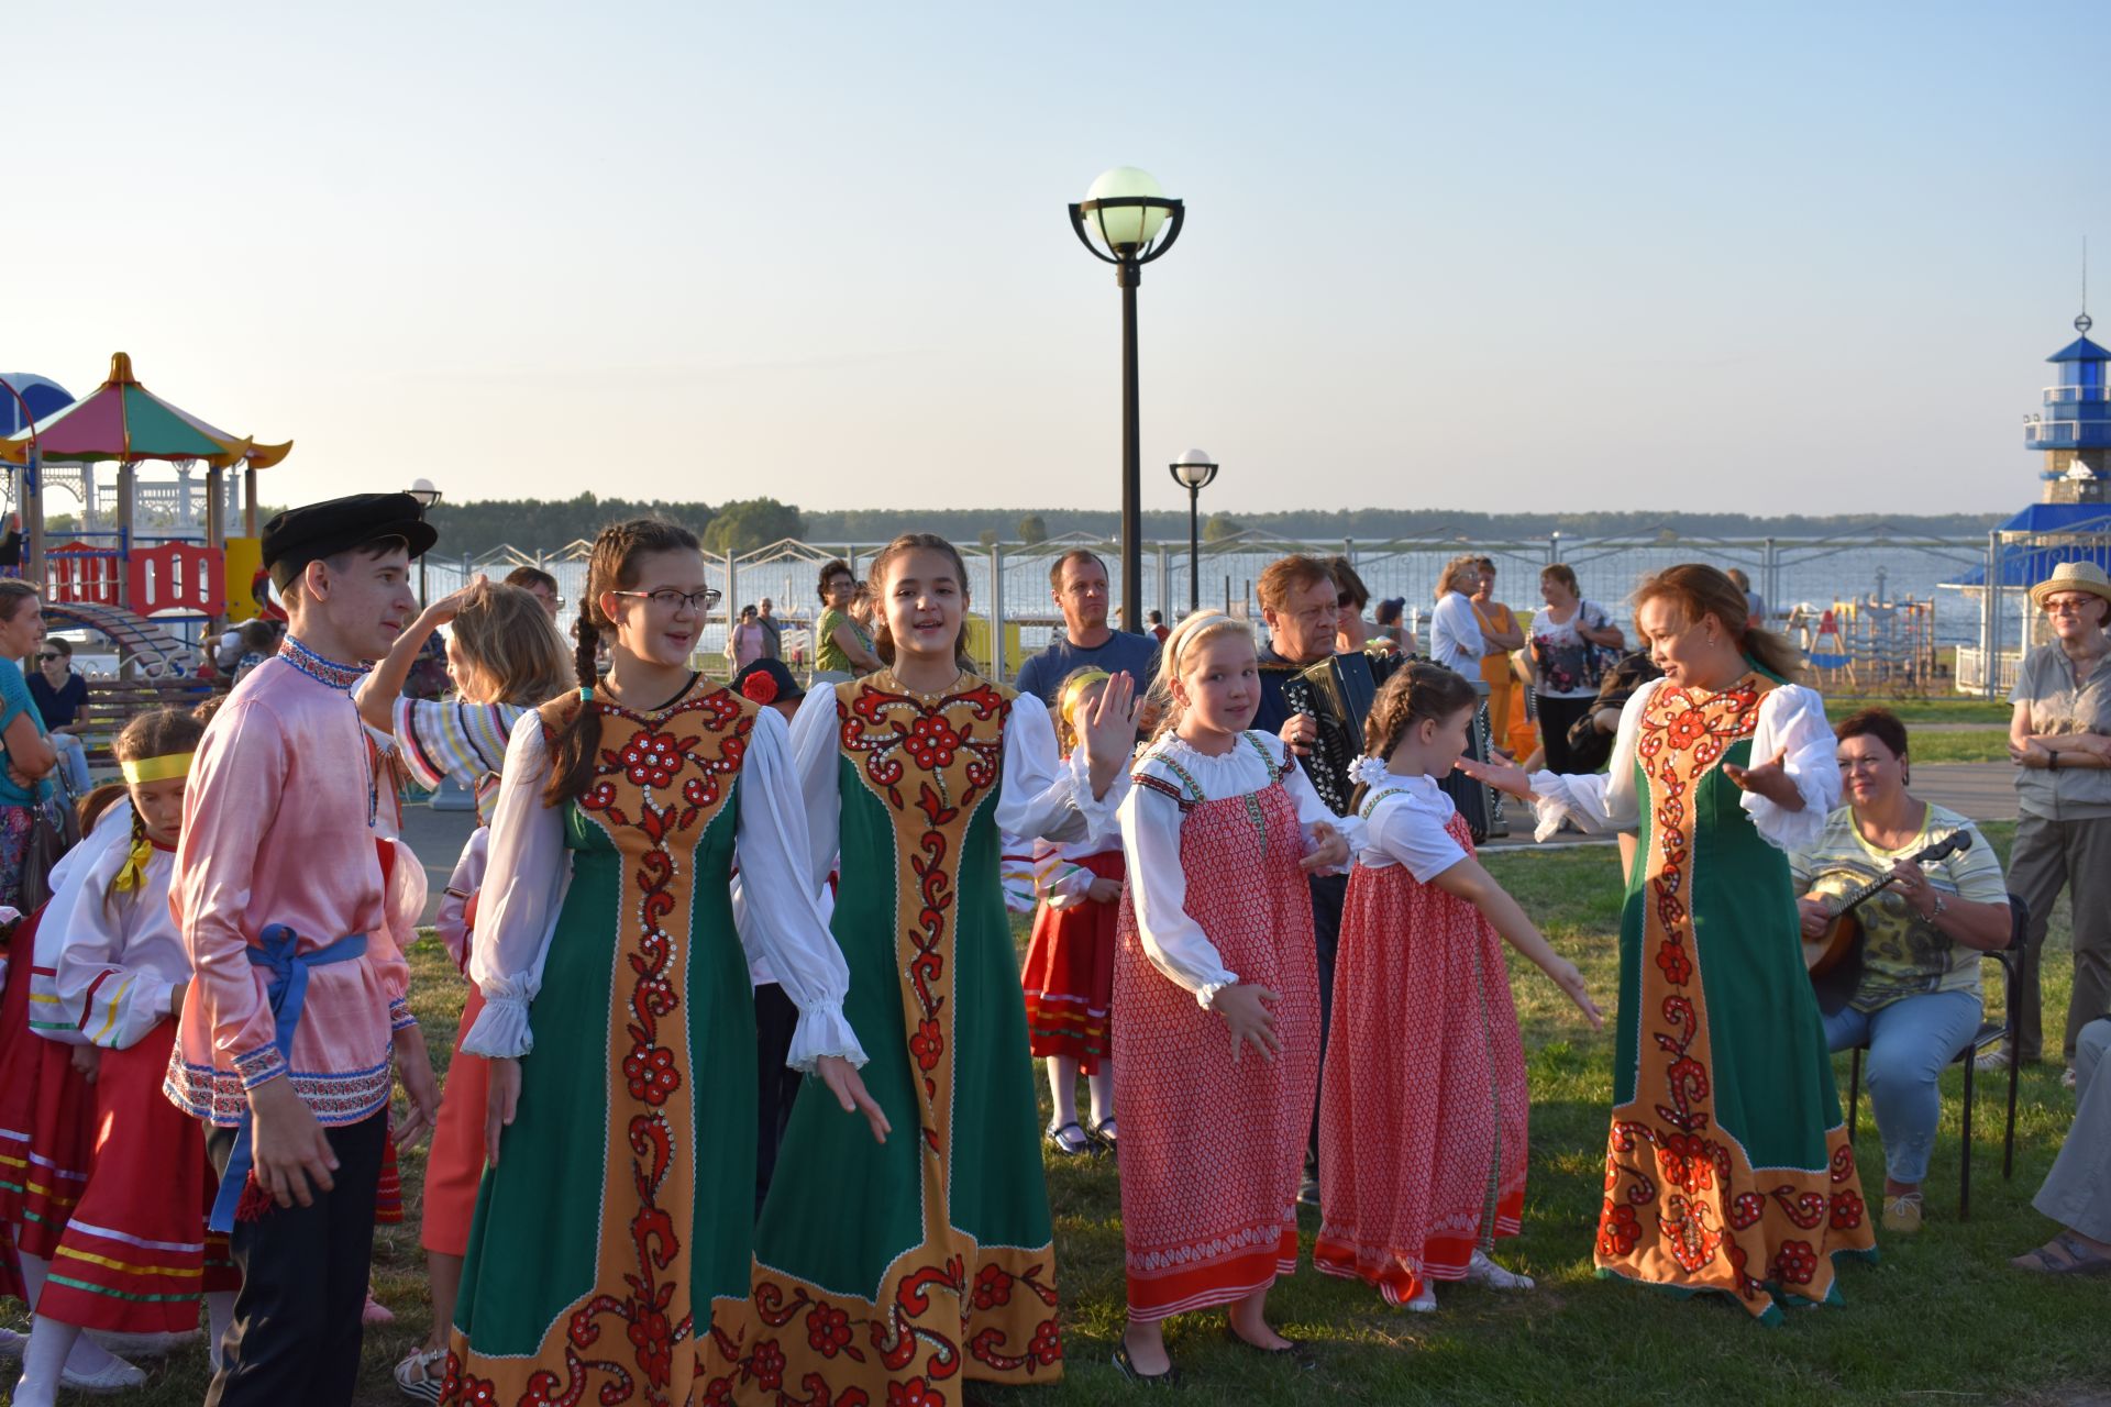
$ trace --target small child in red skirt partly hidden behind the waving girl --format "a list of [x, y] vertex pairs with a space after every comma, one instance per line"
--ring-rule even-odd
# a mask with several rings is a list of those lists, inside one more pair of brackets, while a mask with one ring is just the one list
[[[1062, 681], [1056, 743], [1068, 757], [1077, 717], [1106, 692], [1104, 669], [1077, 669]], [[1034, 934], [1026, 945], [1020, 985], [1026, 989], [1026, 1044], [1049, 1063], [1056, 1105], [1047, 1141], [1060, 1154], [1087, 1154], [1093, 1139], [1115, 1141], [1115, 1069], [1108, 1010], [1115, 998], [1115, 918], [1121, 903], [1121, 831], [1108, 827], [1070, 844], [1041, 842], [1051, 852]], [[1039, 865], [1037, 865], [1039, 869]], [[1077, 1120], [1077, 1074], [1091, 1091], [1091, 1126]]]

